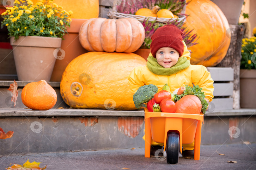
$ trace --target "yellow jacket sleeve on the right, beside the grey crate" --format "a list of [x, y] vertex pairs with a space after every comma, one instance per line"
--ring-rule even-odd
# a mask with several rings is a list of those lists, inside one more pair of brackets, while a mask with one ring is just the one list
[[200, 69], [192, 69], [191, 80], [194, 85], [198, 85], [202, 88], [205, 94], [205, 98], [212, 101], [213, 98], [213, 80], [211, 78], [210, 72], [207, 71], [206, 67], [203, 65], [193, 65], [194, 67], [201, 67]]

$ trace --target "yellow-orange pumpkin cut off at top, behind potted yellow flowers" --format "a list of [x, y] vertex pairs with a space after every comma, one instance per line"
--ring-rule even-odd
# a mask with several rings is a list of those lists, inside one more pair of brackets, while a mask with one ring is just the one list
[[[38, 0], [32, 0], [35, 4]], [[76, 19], [90, 19], [99, 16], [99, 1], [98, 0], [76, 0], [63, 1], [54, 0], [53, 3], [63, 7], [63, 10], [71, 10], [73, 14], [71, 18]]]

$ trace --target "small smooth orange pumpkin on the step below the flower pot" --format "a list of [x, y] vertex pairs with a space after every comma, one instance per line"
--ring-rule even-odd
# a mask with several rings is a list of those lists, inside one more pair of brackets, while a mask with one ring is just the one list
[[57, 102], [55, 90], [45, 80], [28, 83], [21, 92], [22, 103], [32, 110], [49, 110]]

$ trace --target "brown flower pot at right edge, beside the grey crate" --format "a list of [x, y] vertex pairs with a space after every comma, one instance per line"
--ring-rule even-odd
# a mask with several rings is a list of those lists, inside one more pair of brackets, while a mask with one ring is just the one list
[[240, 70], [240, 107], [256, 108], [256, 70]]

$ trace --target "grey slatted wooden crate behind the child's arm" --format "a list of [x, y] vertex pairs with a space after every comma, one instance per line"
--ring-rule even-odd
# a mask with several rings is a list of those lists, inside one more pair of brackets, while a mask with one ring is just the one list
[[231, 67], [207, 67], [213, 79], [213, 100], [210, 102], [209, 111], [233, 109], [233, 82], [234, 69]]

